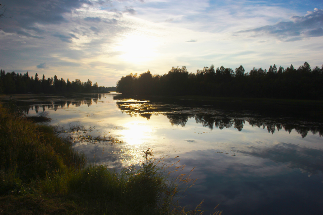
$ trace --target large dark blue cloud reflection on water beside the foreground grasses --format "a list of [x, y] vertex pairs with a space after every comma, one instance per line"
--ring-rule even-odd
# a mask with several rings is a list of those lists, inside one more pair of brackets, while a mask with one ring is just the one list
[[214, 152], [181, 154], [179, 164], [186, 164], [188, 171], [197, 166], [191, 178], [199, 178], [188, 191], [190, 198], [181, 200], [183, 204], [193, 207], [204, 199], [205, 210], [220, 204], [217, 210], [225, 214], [284, 214], [287, 209], [288, 214], [322, 212], [322, 173], [308, 178], [282, 162]]

